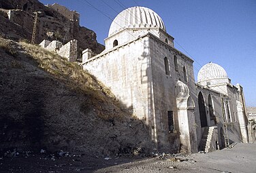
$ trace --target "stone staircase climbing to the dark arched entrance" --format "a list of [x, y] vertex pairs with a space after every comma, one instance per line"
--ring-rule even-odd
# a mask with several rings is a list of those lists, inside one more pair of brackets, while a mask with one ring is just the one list
[[[199, 151], [204, 151], [204, 152], [208, 153], [209, 149], [210, 149], [210, 151], [216, 150], [217, 147], [216, 147], [215, 140], [212, 140], [212, 136], [214, 134], [215, 129], [217, 130], [217, 126], [204, 128], [204, 132], [202, 134], [202, 139], [200, 141], [199, 148], [198, 148]], [[215, 147], [213, 147], [213, 146], [215, 146]]]

